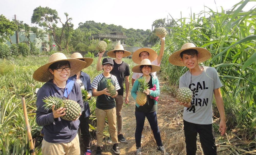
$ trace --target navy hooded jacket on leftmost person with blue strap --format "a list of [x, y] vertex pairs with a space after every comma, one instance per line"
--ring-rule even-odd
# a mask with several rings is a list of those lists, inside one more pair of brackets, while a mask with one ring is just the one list
[[[42, 107], [45, 104], [42, 99], [49, 96], [63, 98], [63, 92], [52, 82], [52, 79], [38, 90], [36, 99], [36, 123], [43, 126], [44, 140], [50, 143], [71, 142], [77, 135], [80, 121], [67, 121], [60, 117], [54, 119], [52, 110], [44, 110], [44, 107]], [[77, 82], [74, 82], [68, 98], [76, 101], [82, 110], [83, 99]]]

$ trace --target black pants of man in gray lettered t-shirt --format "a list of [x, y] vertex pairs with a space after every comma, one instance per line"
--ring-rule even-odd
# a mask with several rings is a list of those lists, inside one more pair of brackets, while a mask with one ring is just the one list
[[217, 147], [215, 145], [214, 129], [212, 124], [195, 124], [185, 120], [184, 134], [186, 142], [187, 155], [196, 154], [196, 136], [199, 134], [200, 143], [205, 155], [217, 155]]

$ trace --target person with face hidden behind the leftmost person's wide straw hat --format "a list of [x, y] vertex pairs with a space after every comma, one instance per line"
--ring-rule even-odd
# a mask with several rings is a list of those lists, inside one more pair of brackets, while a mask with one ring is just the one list
[[[83, 56], [78, 52], [73, 53], [71, 55], [71, 59], [79, 59], [81, 61], [86, 62], [86, 66], [84, 68], [87, 68], [93, 62], [93, 58], [83, 58]], [[74, 76], [69, 77], [69, 79], [76, 81], [80, 85], [81, 89], [87, 90], [88, 92], [87, 99], [91, 98], [92, 86], [91, 86], [90, 76], [88, 74], [79, 70]], [[79, 127], [81, 129], [81, 133], [83, 136], [84, 150], [86, 151], [85, 155], [90, 155], [91, 154], [91, 150], [90, 150], [91, 134], [89, 132], [89, 116], [91, 112], [90, 112], [90, 107], [87, 100], [83, 100], [83, 105], [84, 106], [82, 109], [82, 115], [79, 117], [79, 121], [80, 121]]]

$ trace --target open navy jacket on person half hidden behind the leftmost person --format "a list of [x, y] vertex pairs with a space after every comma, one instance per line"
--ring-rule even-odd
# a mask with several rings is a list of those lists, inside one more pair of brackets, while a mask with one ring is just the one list
[[[68, 79], [73, 80], [73, 81], [77, 81], [77, 75], [69, 77]], [[91, 94], [91, 96], [92, 96], [92, 86], [91, 86], [90, 76], [81, 71], [80, 80], [83, 82], [85, 90], [87, 90], [88, 93]], [[84, 118], [89, 117], [91, 112], [90, 112], [90, 107], [89, 107], [88, 101], [86, 100], [86, 101], [83, 101], [83, 102], [84, 102]]]

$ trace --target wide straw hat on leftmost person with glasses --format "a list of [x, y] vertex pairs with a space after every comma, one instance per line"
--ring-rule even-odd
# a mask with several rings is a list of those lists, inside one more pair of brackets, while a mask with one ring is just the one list
[[49, 71], [49, 66], [55, 62], [66, 60], [70, 63], [70, 77], [75, 75], [78, 71], [82, 70], [86, 66], [86, 62], [78, 59], [68, 59], [63, 53], [54, 53], [49, 57], [47, 64], [39, 67], [33, 74], [33, 78], [39, 82], [47, 82], [54, 78], [54, 75]]

